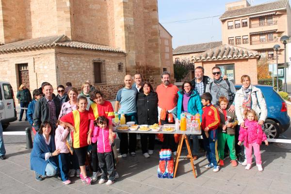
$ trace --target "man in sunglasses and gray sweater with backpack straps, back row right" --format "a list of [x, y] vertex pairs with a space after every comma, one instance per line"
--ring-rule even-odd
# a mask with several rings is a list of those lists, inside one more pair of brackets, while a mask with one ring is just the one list
[[212, 96], [211, 103], [213, 105], [218, 105], [219, 97], [226, 97], [231, 104], [228, 111], [230, 113], [234, 112], [234, 95], [236, 93], [235, 87], [231, 81], [223, 80], [221, 76], [221, 70], [218, 66], [212, 68], [213, 82], [208, 83], [206, 86], [206, 92], [209, 92]]

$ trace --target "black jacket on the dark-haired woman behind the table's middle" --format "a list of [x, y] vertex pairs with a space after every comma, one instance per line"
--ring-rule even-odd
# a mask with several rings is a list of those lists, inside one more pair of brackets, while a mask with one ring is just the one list
[[136, 96], [137, 121], [139, 125], [153, 125], [158, 123], [158, 95], [150, 92], [137, 93]]

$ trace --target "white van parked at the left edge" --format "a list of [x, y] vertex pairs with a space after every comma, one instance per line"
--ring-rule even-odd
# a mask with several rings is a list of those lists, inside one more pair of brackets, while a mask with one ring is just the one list
[[0, 81], [0, 100], [4, 103], [4, 109], [0, 110], [0, 120], [3, 129], [6, 129], [10, 122], [17, 120], [13, 89], [9, 82]]

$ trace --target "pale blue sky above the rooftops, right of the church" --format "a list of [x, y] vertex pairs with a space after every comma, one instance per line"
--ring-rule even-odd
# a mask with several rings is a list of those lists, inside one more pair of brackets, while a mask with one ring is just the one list
[[[159, 21], [173, 36], [173, 49], [221, 41], [219, 16], [226, 11], [225, 4], [233, 1], [238, 0], [158, 0]], [[275, 0], [248, 0], [251, 5], [271, 1]]]

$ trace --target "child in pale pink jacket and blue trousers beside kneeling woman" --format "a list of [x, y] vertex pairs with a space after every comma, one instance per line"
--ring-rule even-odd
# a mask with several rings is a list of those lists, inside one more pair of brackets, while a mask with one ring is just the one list
[[60, 175], [62, 178], [63, 183], [70, 184], [71, 181], [68, 177], [69, 172], [69, 164], [70, 164], [70, 151], [66, 146], [66, 138], [69, 134], [69, 128], [65, 126], [62, 121], [58, 121], [58, 128], [55, 131], [55, 144], [56, 149], [60, 149], [61, 152], [58, 155], [59, 161], [59, 168], [60, 168]]

